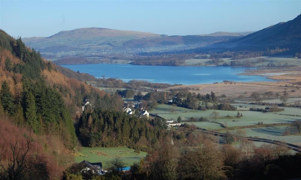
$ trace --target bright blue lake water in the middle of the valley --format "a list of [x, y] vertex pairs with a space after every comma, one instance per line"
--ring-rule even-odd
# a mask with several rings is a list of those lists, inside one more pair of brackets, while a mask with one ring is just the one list
[[62, 65], [95, 77], [118, 77], [124, 81], [146, 80], [169, 84], [207, 84], [223, 80], [236, 82], [273, 81], [262, 76], [238, 75], [255, 67], [224, 66], [140, 66], [132, 64], [75, 64]]

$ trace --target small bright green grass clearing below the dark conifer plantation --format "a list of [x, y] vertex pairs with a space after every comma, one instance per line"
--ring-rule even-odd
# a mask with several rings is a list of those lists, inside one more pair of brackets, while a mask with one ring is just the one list
[[113, 158], [120, 157], [125, 163], [126, 166], [131, 166], [135, 162], [139, 162], [141, 158], [146, 156], [146, 152], [140, 152], [139, 154], [135, 153], [134, 149], [129, 149], [127, 147], [113, 147], [113, 148], [103, 148], [103, 147], [83, 147], [80, 150], [85, 156], [76, 156], [75, 161], [77, 163], [81, 161], [89, 162], [102, 162], [103, 167], [106, 168], [107, 162]]

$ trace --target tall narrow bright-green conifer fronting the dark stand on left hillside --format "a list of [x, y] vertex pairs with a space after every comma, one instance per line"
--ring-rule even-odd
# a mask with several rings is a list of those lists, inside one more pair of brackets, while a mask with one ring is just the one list
[[39, 132], [39, 122], [36, 115], [36, 102], [32, 92], [27, 92], [25, 97], [25, 118], [26, 122], [33, 129], [33, 132]]

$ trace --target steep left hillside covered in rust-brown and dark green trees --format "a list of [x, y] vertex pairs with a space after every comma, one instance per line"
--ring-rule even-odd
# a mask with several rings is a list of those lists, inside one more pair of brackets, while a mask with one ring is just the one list
[[[97, 108], [121, 108], [119, 96], [110, 97], [76, 80], [92, 80], [92, 76], [73, 71], [68, 74], [72, 78], [27, 48], [21, 38], [15, 40], [0, 30], [1, 170], [14, 161], [11, 146], [21, 148], [22, 155], [27, 153], [25, 168], [32, 168], [30, 173], [20, 170], [22, 178], [14, 174], [11, 179], [60, 179], [62, 170], [72, 164], [71, 152], [79, 144], [74, 123], [84, 99], [90, 98]], [[1, 173], [0, 179], [6, 176]]]

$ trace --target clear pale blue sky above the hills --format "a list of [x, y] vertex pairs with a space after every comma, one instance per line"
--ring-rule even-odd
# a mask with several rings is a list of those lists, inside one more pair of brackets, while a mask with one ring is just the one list
[[83, 27], [196, 35], [257, 31], [301, 13], [298, 1], [5, 1], [0, 29], [50, 36]]

